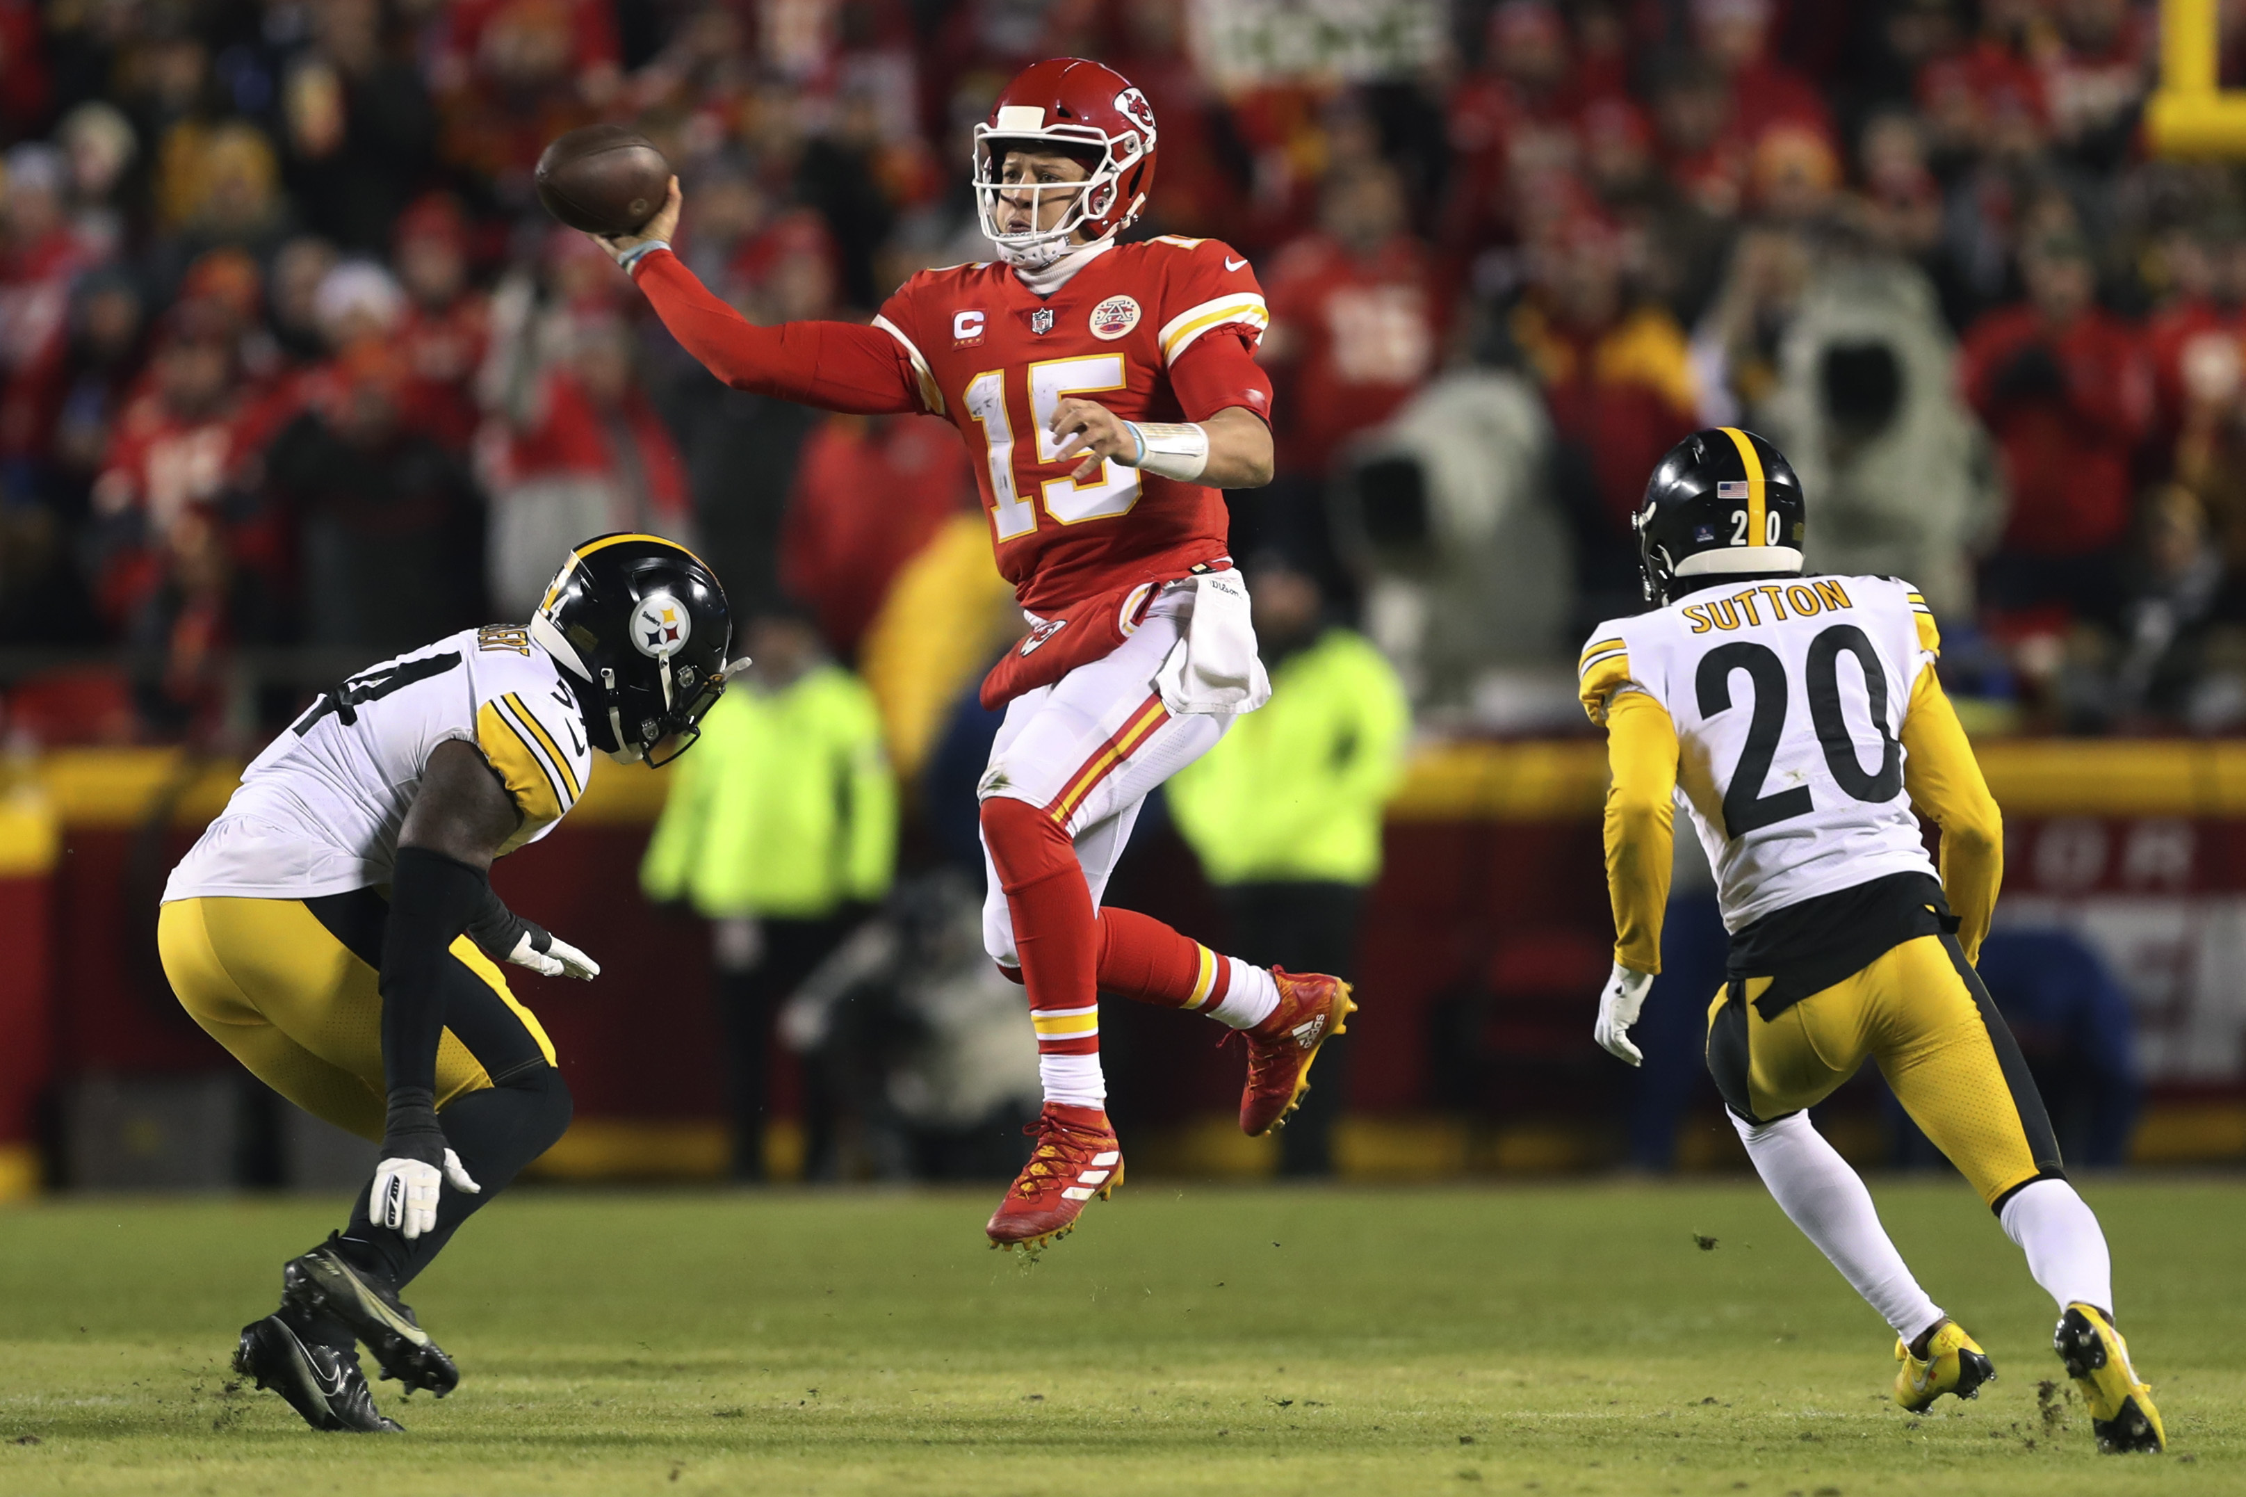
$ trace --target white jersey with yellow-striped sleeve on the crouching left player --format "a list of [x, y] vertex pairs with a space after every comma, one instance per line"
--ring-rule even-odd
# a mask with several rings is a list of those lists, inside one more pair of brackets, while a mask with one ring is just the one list
[[305, 708], [243, 771], [164, 899], [310, 899], [389, 883], [398, 829], [449, 740], [476, 744], [523, 816], [501, 854], [553, 832], [593, 769], [577, 695], [530, 632], [463, 629]]

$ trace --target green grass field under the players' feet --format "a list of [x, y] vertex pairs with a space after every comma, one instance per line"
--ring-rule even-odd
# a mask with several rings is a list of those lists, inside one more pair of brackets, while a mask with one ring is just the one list
[[[995, 1191], [521, 1191], [411, 1299], [463, 1367], [308, 1432], [234, 1328], [332, 1203], [0, 1212], [4, 1493], [2237, 1493], [2246, 1185], [2093, 1182], [2174, 1454], [2096, 1457], [2051, 1301], [1959, 1182], [1875, 1182], [1997, 1360], [1891, 1340], [1752, 1185], [1141, 1182], [1020, 1268]], [[1696, 1245], [1696, 1234], [1716, 1239]]]

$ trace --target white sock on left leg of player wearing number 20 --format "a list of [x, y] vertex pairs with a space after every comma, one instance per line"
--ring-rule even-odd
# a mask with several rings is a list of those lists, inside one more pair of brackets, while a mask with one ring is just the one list
[[1779, 1207], [1817, 1243], [1842, 1279], [1887, 1317], [1896, 1335], [1918, 1340], [1943, 1317], [1887, 1239], [1864, 1180], [1810, 1126], [1808, 1113], [1772, 1124], [1747, 1124], [1736, 1113], [1727, 1117]]

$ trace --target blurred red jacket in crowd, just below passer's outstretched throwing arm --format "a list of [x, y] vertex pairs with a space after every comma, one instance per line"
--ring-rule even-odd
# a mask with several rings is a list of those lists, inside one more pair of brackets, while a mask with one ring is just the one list
[[779, 533], [779, 582], [813, 607], [849, 654], [889, 582], [946, 519], [975, 506], [975, 472], [957, 436], [905, 416], [829, 416], [795, 461]]

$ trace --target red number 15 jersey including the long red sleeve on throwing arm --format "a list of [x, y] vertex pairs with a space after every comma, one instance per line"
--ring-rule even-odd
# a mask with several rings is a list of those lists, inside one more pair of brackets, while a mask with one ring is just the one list
[[1224, 497], [1121, 463], [1078, 483], [1051, 434], [1060, 400], [1123, 420], [1271, 416], [1251, 357], [1269, 321], [1244, 256], [1213, 238], [1119, 245], [1040, 297], [1002, 263], [923, 270], [874, 326], [757, 328], [658, 250], [636, 279], [672, 335], [737, 389], [831, 411], [925, 411], [959, 427], [990, 515], [997, 569], [1051, 611], [1224, 557]]

